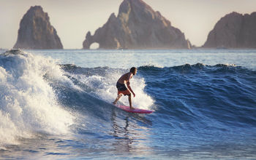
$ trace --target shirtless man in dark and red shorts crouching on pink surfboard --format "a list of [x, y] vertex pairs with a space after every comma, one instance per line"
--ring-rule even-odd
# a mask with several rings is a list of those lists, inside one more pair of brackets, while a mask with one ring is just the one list
[[[134, 76], [137, 73], [137, 68], [132, 67], [129, 70], [129, 73], [125, 73], [123, 76], [121, 76], [118, 81], [116, 82], [116, 88], [118, 90], [116, 100], [113, 102], [115, 105], [116, 102], [121, 98], [122, 95], [128, 95], [129, 100], [129, 108], [133, 109], [132, 107], [132, 96], [135, 97], [135, 92], [132, 91], [132, 88], [129, 86], [129, 80], [132, 79], [132, 76]], [[127, 87], [125, 86], [127, 84]]]

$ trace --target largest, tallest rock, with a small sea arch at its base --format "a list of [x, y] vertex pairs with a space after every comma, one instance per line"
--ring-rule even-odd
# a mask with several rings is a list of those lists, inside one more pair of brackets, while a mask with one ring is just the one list
[[190, 44], [184, 33], [142, 0], [124, 0], [117, 17], [113, 13], [93, 36], [86, 34], [83, 49], [94, 42], [101, 49], [187, 49]]

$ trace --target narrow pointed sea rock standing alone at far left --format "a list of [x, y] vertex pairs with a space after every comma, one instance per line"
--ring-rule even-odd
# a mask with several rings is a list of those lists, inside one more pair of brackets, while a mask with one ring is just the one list
[[50, 25], [48, 14], [42, 7], [30, 7], [20, 21], [18, 40], [14, 48], [63, 49], [55, 28]]

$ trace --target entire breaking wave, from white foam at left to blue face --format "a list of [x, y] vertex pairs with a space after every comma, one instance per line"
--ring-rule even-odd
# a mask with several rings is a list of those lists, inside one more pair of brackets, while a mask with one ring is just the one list
[[[129, 69], [57, 63], [20, 50], [0, 55], [0, 145], [34, 132], [65, 134], [74, 112], [90, 117], [86, 123], [110, 123], [116, 81]], [[155, 123], [184, 131], [256, 127], [255, 84], [256, 71], [232, 64], [144, 65], [131, 80], [132, 103], [155, 110]]]

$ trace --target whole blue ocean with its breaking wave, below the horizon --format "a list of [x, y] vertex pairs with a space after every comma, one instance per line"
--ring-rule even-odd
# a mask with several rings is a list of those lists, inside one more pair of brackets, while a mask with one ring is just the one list
[[255, 49], [0, 54], [0, 159], [256, 159]]

